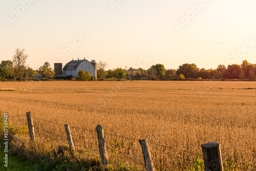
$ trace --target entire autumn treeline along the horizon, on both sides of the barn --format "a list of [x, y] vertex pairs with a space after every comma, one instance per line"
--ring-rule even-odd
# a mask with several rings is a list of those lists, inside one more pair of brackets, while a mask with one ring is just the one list
[[[32, 79], [35, 75], [52, 79], [54, 71], [49, 62], [45, 62], [39, 69], [33, 70], [26, 66], [28, 54], [24, 49], [17, 48], [12, 60], [2, 60], [0, 63], [0, 80]], [[148, 69], [135, 69], [126, 67], [106, 71], [108, 64], [99, 61], [97, 63], [97, 78], [104, 79], [147, 79], [147, 80], [182, 80], [182, 79], [256, 79], [256, 64], [243, 60], [241, 65], [233, 64], [219, 65], [217, 69], [199, 69], [195, 63], [184, 63], [178, 69], [165, 69], [164, 65], [158, 63]], [[88, 80], [90, 73], [79, 73], [79, 80]], [[68, 77], [71, 79], [72, 76]]]

